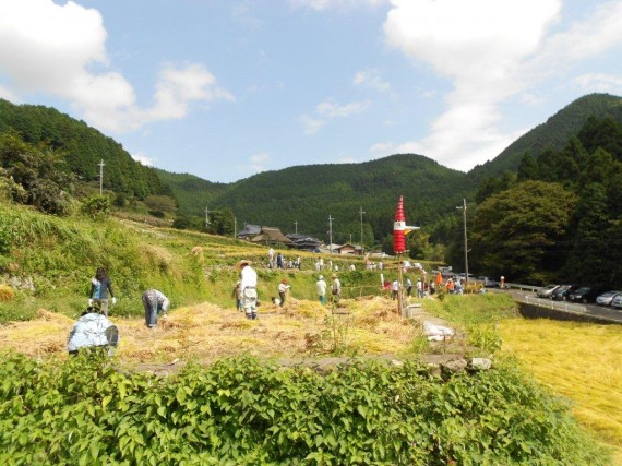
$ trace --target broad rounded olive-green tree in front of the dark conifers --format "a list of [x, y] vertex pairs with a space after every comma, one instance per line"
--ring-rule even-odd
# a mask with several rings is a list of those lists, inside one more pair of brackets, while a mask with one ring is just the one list
[[491, 274], [541, 283], [557, 271], [555, 242], [565, 238], [575, 205], [560, 184], [518, 183], [477, 207], [469, 246]]

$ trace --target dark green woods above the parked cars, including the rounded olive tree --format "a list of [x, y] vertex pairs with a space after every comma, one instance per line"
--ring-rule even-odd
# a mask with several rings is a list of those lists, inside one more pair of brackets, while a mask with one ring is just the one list
[[561, 150], [525, 156], [515, 179], [478, 193], [477, 270], [515, 282], [622, 284], [622, 122], [589, 118]]

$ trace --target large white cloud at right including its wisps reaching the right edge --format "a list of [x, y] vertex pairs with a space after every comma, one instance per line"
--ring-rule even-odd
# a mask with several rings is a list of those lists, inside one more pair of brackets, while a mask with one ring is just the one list
[[[428, 136], [370, 151], [415, 152], [458, 169], [497, 156], [525, 131], [500, 129], [502, 104], [518, 96], [536, 105], [541, 97], [535, 86], [542, 80], [622, 45], [622, 1], [601, 3], [583, 21], [554, 31], [562, 13], [561, 0], [392, 0], [386, 41], [454, 87]], [[607, 74], [573, 82], [583, 92], [622, 88], [620, 76]]]

